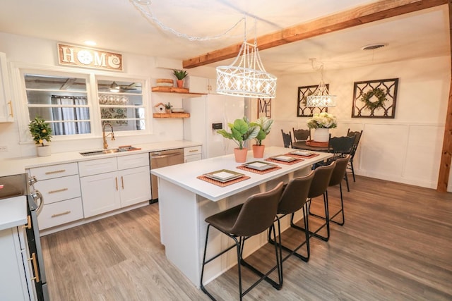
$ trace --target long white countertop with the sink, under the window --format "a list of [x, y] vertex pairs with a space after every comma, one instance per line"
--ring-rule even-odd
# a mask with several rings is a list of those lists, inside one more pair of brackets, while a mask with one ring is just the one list
[[[10, 176], [24, 173], [26, 168], [49, 166], [53, 164], [64, 164], [78, 161], [88, 161], [102, 159], [109, 156], [126, 156], [129, 154], [139, 154], [143, 152], [156, 152], [164, 149], [177, 149], [183, 147], [194, 147], [201, 145], [199, 142], [191, 142], [186, 140], [155, 142], [148, 144], [132, 145], [141, 149], [129, 152], [116, 152], [112, 154], [97, 154], [95, 156], [82, 156], [80, 152], [89, 152], [93, 149], [86, 149], [77, 152], [61, 152], [50, 156], [27, 156], [10, 159], [2, 159], [0, 161], [0, 176]], [[95, 149], [99, 150], [99, 149]]]

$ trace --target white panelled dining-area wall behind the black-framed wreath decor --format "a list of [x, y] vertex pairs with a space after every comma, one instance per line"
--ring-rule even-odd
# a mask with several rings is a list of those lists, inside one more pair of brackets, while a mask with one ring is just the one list
[[[325, 66], [323, 78], [331, 94], [338, 95], [338, 106], [328, 109], [338, 118], [332, 135], [345, 135], [347, 128], [364, 130], [354, 161], [357, 174], [436, 188], [451, 82], [449, 66], [447, 56], [347, 70]], [[386, 78], [399, 78], [396, 118], [351, 118], [354, 82]], [[296, 117], [297, 87], [319, 81], [319, 73], [278, 77], [277, 97], [272, 102], [275, 125], [267, 145], [283, 146], [281, 129], [307, 128], [307, 118]]]

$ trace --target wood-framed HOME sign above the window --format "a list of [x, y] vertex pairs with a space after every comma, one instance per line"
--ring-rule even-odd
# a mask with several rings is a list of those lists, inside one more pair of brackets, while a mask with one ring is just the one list
[[58, 63], [101, 70], [123, 70], [121, 54], [68, 44], [58, 44]]

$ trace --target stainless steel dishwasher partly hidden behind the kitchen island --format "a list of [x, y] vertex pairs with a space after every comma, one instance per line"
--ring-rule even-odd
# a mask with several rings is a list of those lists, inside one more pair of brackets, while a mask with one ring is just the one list
[[[150, 152], [150, 169], [160, 168], [184, 163], [184, 149], [168, 149], [160, 152]], [[150, 186], [152, 188], [152, 201], [158, 200], [157, 177], [150, 175]]]

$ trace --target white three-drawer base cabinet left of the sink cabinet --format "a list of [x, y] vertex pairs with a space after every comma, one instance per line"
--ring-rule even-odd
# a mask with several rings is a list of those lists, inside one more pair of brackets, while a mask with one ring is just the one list
[[76, 163], [30, 168], [35, 189], [44, 206], [37, 216], [40, 230], [83, 219], [80, 180]]

